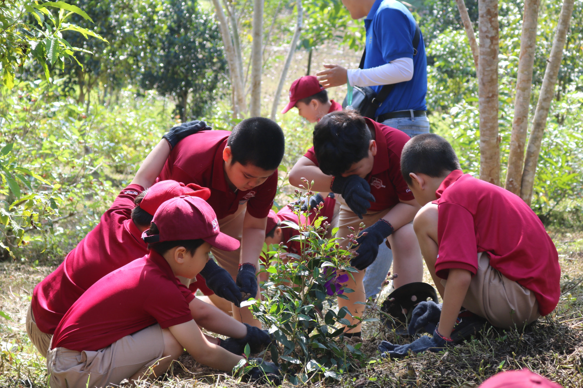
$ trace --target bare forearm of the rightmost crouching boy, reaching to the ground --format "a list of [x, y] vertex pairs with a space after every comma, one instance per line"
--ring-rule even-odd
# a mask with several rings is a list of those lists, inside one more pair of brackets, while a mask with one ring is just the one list
[[448, 338], [454, 329], [455, 320], [458, 319], [459, 310], [468, 293], [468, 287], [472, 281], [472, 273], [467, 269], [452, 268], [447, 276], [445, 292], [443, 296], [443, 307], [438, 332]]

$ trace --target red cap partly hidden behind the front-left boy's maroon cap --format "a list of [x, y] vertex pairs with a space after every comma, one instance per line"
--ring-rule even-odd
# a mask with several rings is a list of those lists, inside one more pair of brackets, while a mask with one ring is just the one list
[[175, 180], [161, 180], [148, 189], [139, 206], [150, 215], [154, 215], [163, 202], [170, 200], [170, 198], [180, 197], [180, 195], [190, 195], [208, 200], [210, 190], [194, 183], [185, 185]]

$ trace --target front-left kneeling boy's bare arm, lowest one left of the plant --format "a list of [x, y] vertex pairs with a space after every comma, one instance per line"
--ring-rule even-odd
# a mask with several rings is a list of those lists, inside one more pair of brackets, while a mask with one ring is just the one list
[[221, 371], [230, 372], [243, 359], [222, 347], [210, 343], [194, 320], [168, 328], [174, 338], [192, 355], [196, 362]]

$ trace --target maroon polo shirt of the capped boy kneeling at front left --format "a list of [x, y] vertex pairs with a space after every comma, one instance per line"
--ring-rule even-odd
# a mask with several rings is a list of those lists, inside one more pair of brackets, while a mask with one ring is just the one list
[[89, 287], [57, 326], [51, 348], [96, 351], [156, 323], [188, 322], [194, 296], [181, 286], [166, 259], [150, 251]]

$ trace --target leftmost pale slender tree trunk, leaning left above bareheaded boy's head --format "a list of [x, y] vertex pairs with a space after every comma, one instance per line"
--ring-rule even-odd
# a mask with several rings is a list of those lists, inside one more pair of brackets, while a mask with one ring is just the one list
[[227, 22], [227, 17], [224, 15], [223, 6], [219, 0], [213, 0], [213, 5], [215, 5], [215, 15], [219, 22], [221, 37], [223, 38], [224, 53], [227, 57], [227, 63], [229, 63], [231, 88], [233, 88], [234, 94], [233, 116], [234, 118], [238, 118], [241, 113], [247, 110], [245, 109], [242, 69], [236, 58], [233, 42], [231, 41], [231, 33], [229, 32], [229, 23]]

